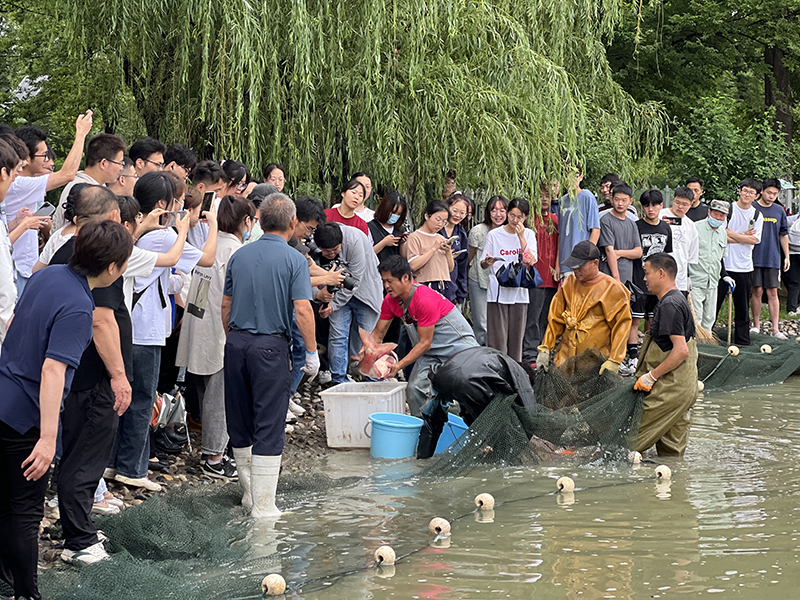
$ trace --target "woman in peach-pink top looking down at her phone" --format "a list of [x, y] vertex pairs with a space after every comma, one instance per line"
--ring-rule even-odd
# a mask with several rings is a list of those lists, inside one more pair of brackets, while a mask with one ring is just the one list
[[425, 207], [424, 221], [419, 229], [408, 236], [405, 248], [414, 280], [444, 294], [455, 266], [453, 248], [440, 233], [450, 220], [450, 207], [434, 200]]

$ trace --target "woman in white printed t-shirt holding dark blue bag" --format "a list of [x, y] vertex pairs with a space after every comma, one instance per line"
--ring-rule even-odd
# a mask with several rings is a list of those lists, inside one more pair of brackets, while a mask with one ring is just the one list
[[519, 260], [533, 265], [537, 260], [536, 234], [525, 227], [530, 213], [528, 201], [514, 198], [508, 204], [508, 222], [486, 236], [481, 256], [481, 268], [491, 269], [486, 303], [486, 333], [491, 348], [522, 360], [522, 340], [528, 317], [528, 290], [501, 287], [497, 282], [500, 267], [508, 268]]

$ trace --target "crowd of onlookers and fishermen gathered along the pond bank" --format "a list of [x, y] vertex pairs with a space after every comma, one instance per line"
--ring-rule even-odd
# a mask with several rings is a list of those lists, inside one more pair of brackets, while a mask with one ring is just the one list
[[[274, 517], [286, 423], [304, 410], [292, 394], [304, 378], [357, 376], [362, 335], [398, 344], [389, 376], [405, 372], [413, 414], [429, 370], [459, 350], [488, 345], [546, 370], [598, 349], [601, 373], [636, 374], [657, 399], [643, 443], [682, 454], [693, 398], [676, 386], [696, 379], [695, 323], [710, 329], [728, 297], [735, 342], [749, 344], [765, 297], [784, 337], [784, 276], [798, 311], [800, 225], [775, 179], [743, 179], [735, 203], [707, 205], [690, 178], [665, 206], [607, 174], [600, 205], [578, 167], [542, 182], [538, 205], [495, 195], [481, 207], [448, 172], [415, 223], [364, 172], [326, 209], [285, 194], [278, 163], [255, 174], [149, 137], [87, 143], [91, 127], [91, 111], [77, 118], [58, 170], [45, 132], [0, 131], [0, 526], [13, 542], [0, 577], [19, 596], [39, 597], [51, 462], [62, 558], [106, 559], [91, 514], [119, 503], [104, 480], [160, 489], [150, 422], [176, 384], [202, 424], [203, 471], [238, 478], [243, 505]], [[535, 287], [515, 279], [534, 272]]]

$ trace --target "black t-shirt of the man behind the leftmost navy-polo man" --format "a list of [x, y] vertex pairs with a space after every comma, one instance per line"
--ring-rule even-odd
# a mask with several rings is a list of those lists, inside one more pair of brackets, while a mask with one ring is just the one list
[[[56, 251], [53, 258], [50, 259], [50, 264], [69, 263], [74, 245], [75, 237], [73, 236]], [[122, 361], [125, 363], [125, 374], [128, 376], [128, 381], [133, 381], [133, 327], [131, 325], [131, 315], [125, 305], [122, 277], [119, 277], [108, 287], [94, 288], [92, 296], [94, 297], [95, 307], [110, 308], [114, 311], [114, 319], [117, 321], [117, 327], [119, 327], [119, 341], [122, 349]], [[108, 372], [103, 364], [103, 359], [97, 353], [94, 340], [92, 340], [83, 352], [83, 356], [81, 356], [81, 364], [75, 370], [72, 391], [79, 392], [94, 387], [103, 374], [108, 375]]]

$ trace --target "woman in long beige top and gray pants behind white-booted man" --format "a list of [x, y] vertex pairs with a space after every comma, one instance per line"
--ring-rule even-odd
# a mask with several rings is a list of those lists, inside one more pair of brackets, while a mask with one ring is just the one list
[[237, 476], [236, 465], [225, 456], [228, 428], [225, 420], [222, 290], [228, 260], [252, 231], [256, 208], [246, 198], [224, 196], [217, 211], [216, 260], [211, 267], [195, 267], [192, 271], [175, 364], [186, 367], [187, 396], [196, 394], [202, 407], [203, 472], [211, 477], [234, 478]]

